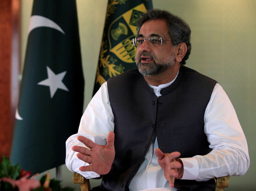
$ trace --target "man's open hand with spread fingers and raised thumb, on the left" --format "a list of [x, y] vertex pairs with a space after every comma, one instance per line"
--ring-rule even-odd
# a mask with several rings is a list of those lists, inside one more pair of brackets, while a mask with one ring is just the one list
[[72, 150], [78, 152], [77, 157], [82, 161], [89, 163], [88, 166], [82, 166], [80, 171], [94, 171], [99, 175], [107, 174], [115, 157], [114, 132], [110, 131], [107, 136], [107, 145], [98, 145], [83, 136], [77, 139], [84, 143], [89, 149], [80, 146], [73, 146]]

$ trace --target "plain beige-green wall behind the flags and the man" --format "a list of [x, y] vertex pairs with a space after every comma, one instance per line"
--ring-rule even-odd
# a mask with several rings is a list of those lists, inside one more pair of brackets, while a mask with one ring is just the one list
[[[108, 0], [77, 0], [84, 68], [85, 103], [92, 96]], [[254, 190], [256, 163], [256, 1], [153, 0], [191, 27], [192, 52], [186, 66], [216, 79], [232, 101], [246, 135], [251, 164], [246, 175], [231, 177], [225, 190]], [[26, 49], [32, 0], [22, 1], [22, 61]], [[54, 176], [54, 170], [51, 171]], [[62, 166], [63, 185], [72, 185], [72, 173]], [[93, 180], [93, 184], [98, 181]]]

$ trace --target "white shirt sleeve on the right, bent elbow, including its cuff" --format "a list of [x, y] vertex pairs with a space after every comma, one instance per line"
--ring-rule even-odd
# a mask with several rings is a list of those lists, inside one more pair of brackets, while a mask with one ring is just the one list
[[226, 175], [244, 175], [250, 165], [248, 146], [236, 112], [220, 84], [216, 84], [204, 114], [207, 155], [181, 159], [182, 179], [207, 181]]

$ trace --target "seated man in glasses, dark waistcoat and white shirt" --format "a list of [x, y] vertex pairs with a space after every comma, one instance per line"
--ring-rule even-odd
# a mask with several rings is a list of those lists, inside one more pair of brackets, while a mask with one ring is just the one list
[[104, 175], [99, 190], [131, 191], [214, 190], [214, 177], [246, 173], [248, 147], [228, 96], [183, 66], [189, 26], [149, 10], [133, 43], [138, 69], [110, 78], [92, 98], [66, 141], [68, 169]]

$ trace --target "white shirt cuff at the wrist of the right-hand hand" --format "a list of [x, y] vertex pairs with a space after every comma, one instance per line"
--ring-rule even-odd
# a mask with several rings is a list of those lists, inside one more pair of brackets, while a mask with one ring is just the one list
[[199, 174], [198, 161], [195, 158], [180, 158], [183, 163], [182, 180], [195, 180]]

